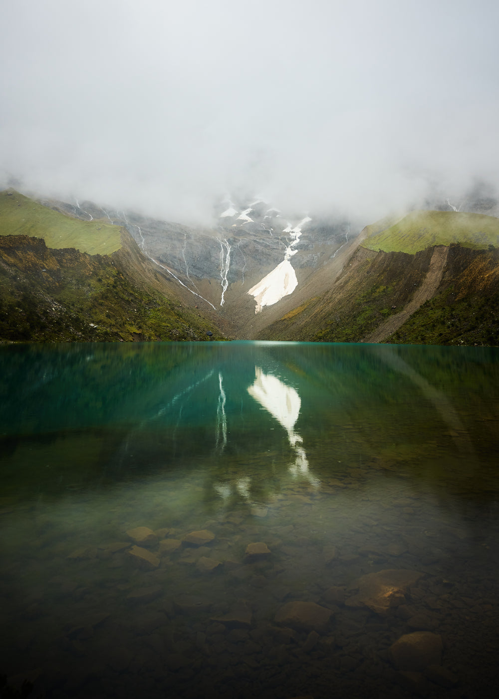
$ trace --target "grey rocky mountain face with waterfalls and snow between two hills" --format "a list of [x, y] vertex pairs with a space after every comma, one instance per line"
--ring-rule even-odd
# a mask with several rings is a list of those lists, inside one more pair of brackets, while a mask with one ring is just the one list
[[87, 222], [99, 219], [124, 226], [145, 256], [175, 280], [185, 298], [190, 296], [192, 305], [216, 311], [226, 331], [240, 338], [251, 338], [268, 324], [268, 313], [258, 317], [261, 309], [289, 294], [296, 296], [295, 289], [359, 231], [347, 221], [285, 215], [263, 201], [221, 202], [215, 224], [205, 229], [90, 202], [43, 203]]

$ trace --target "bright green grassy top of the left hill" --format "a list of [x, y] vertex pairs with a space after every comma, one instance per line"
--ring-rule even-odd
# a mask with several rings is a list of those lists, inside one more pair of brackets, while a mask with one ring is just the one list
[[0, 236], [18, 235], [43, 238], [47, 247], [74, 247], [91, 255], [108, 255], [122, 247], [119, 226], [81, 221], [8, 189], [0, 192]]

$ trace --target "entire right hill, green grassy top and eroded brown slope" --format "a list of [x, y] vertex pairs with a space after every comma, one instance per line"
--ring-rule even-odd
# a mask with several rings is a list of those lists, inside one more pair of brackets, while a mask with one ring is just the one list
[[412, 212], [364, 233], [331, 287], [259, 338], [499, 344], [499, 219]]

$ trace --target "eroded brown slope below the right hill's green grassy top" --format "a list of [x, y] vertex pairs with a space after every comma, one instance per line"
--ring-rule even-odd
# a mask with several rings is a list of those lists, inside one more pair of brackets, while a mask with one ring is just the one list
[[269, 340], [497, 345], [499, 251], [357, 248], [325, 294], [259, 334]]

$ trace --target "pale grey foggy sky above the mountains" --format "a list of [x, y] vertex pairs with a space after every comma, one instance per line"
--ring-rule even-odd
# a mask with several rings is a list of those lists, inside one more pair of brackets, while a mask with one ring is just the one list
[[497, 0], [0, 0], [0, 184], [367, 222], [499, 182]]

